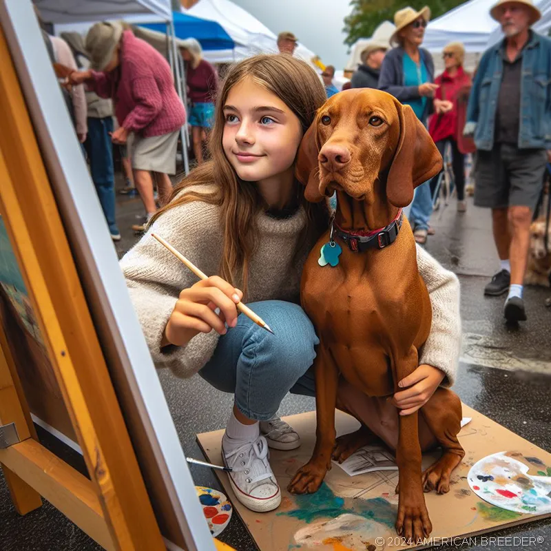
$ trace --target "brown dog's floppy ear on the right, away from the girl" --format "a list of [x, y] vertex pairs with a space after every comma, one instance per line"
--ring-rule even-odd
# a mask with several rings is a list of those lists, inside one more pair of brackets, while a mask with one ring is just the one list
[[395, 207], [406, 207], [413, 200], [413, 189], [441, 171], [442, 156], [413, 109], [397, 100], [395, 105], [400, 134], [388, 171], [386, 196]]

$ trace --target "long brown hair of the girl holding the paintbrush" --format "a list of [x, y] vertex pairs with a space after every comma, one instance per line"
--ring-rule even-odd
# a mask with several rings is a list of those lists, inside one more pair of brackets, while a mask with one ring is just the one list
[[[220, 276], [240, 287], [247, 295], [249, 261], [258, 245], [256, 214], [266, 205], [253, 182], [238, 178], [222, 149], [225, 117], [223, 108], [233, 86], [251, 78], [278, 96], [298, 117], [302, 132], [313, 122], [315, 112], [326, 101], [324, 87], [314, 70], [304, 61], [285, 54], [259, 55], [245, 59], [227, 72], [216, 101], [214, 125], [209, 138], [211, 160], [194, 169], [174, 187], [169, 203], [160, 209], [150, 223], [169, 209], [201, 200], [220, 207], [220, 225], [224, 243], [220, 260]], [[211, 193], [198, 193], [187, 187], [216, 184]], [[304, 199], [304, 187], [295, 180], [298, 202], [306, 211], [306, 231], [302, 245], [318, 238], [327, 229], [329, 210], [326, 201], [310, 203]], [[300, 251], [302, 247], [298, 247]]]

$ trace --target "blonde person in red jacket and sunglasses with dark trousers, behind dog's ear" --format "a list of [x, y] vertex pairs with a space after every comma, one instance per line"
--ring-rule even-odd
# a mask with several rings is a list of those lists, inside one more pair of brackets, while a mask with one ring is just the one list
[[[439, 152], [444, 156], [446, 144], [452, 147], [452, 167], [457, 189], [457, 211], [465, 212], [465, 156], [457, 147], [457, 97], [459, 91], [470, 85], [470, 76], [463, 70], [465, 48], [459, 42], [451, 42], [444, 48], [444, 65], [446, 70], [437, 76], [435, 84], [439, 85], [435, 92], [435, 114], [428, 123], [428, 132], [436, 143]], [[430, 181], [430, 189], [434, 193], [438, 176]]]

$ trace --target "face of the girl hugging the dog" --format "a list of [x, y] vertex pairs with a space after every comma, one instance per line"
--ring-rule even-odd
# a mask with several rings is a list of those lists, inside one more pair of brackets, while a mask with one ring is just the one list
[[231, 88], [223, 109], [222, 147], [239, 178], [260, 182], [289, 171], [302, 128], [278, 96], [245, 79]]

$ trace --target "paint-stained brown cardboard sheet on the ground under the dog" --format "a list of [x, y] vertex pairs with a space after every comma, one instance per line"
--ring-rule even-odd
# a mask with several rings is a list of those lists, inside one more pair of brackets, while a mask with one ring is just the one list
[[[514, 451], [515, 458], [528, 467], [529, 475], [551, 472], [551, 454], [530, 444], [488, 417], [463, 404], [464, 417], [472, 422], [461, 429], [459, 441], [466, 455], [453, 473], [450, 492], [425, 494], [433, 523], [433, 538], [470, 537], [550, 517], [551, 514], [519, 514], [483, 501], [468, 484], [470, 468], [492, 453]], [[398, 497], [397, 470], [368, 472], [349, 477], [333, 466], [324, 484], [313, 495], [293, 496], [287, 484], [300, 466], [310, 459], [315, 444], [315, 413], [302, 413], [285, 420], [300, 434], [300, 448], [288, 452], [270, 450], [270, 463], [282, 488], [281, 506], [269, 513], [255, 513], [242, 506], [233, 495], [227, 475], [216, 471], [225, 491], [245, 522], [261, 551], [379, 551], [385, 548], [418, 549], [428, 545], [397, 545], [394, 529]], [[337, 435], [353, 432], [358, 423], [337, 411]], [[220, 442], [223, 430], [198, 435], [198, 441], [211, 463], [221, 465]], [[439, 450], [424, 454], [423, 468], [439, 457]], [[543, 467], [542, 467], [543, 465]], [[378, 539], [377, 539], [378, 538]]]

